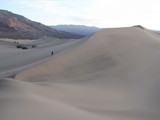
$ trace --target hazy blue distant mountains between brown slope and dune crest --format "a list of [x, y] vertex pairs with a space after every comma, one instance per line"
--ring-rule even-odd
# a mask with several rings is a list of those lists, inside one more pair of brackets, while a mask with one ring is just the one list
[[88, 36], [100, 30], [98, 27], [90, 27], [84, 25], [57, 25], [51, 26], [59, 31], [69, 32], [71, 34]]

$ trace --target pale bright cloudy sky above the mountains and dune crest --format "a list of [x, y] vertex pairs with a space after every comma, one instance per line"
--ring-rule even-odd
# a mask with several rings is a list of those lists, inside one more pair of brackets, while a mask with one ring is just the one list
[[0, 9], [45, 25], [142, 25], [160, 30], [159, 0], [0, 0]]

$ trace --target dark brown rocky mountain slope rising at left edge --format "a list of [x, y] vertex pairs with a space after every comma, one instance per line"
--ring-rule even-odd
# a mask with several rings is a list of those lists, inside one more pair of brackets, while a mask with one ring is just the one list
[[44, 36], [56, 38], [82, 37], [58, 31], [6, 10], [0, 10], [0, 38], [35, 39]]

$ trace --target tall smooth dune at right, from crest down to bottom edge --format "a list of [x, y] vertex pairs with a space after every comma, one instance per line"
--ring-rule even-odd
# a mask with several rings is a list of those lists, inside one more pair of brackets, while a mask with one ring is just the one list
[[146, 29], [131, 27], [101, 30], [77, 48], [15, 78], [71, 85], [57, 99], [93, 113], [158, 120], [159, 71], [160, 39]]

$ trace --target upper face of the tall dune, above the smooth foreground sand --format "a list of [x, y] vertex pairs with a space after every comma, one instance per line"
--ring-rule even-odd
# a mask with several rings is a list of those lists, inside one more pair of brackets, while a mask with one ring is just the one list
[[115, 71], [118, 74], [130, 72], [135, 75], [141, 71], [152, 75], [153, 69], [158, 68], [158, 65], [153, 64], [159, 62], [156, 59], [160, 55], [159, 46], [159, 39], [147, 30], [137, 27], [104, 29], [72, 51], [57, 55], [47, 63], [18, 74], [16, 79], [70, 80], [100, 71]]

